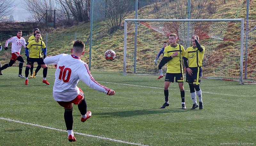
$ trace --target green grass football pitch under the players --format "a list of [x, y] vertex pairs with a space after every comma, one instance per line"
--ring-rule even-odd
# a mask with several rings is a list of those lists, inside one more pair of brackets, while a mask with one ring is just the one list
[[183, 110], [180, 109], [178, 84], [171, 83], [170, 106], [160, 109], [164, 103], [164, 78], [94, 71], [95, 80], [114, 89], [116, 95], [108, 96], [82, 81], [78, 83], [92, 117], [81, 122], [80, 112], [74, 105], [73, 131], [99, 137], [75, 134], [77, 141], [70, 143], [67, 132], [25, 124], [66, 130], [64, 109], [52, 97], [54, 72], [55, 69], [48, 69], [49, 86], [42, 83], [42, 69], [25, 86], [25, 80], [18, 77], [18, 67], [3, 71], [0, 76], [0, 145], [132, 145], [115, 140], [150, 146], [208, 146], [223, 142], [254, 142], [256, 145], [256, 85], [203, 79], [204, 109], [190, 110], [192, 101], [188, 84], [184, 83], [187, 109]]

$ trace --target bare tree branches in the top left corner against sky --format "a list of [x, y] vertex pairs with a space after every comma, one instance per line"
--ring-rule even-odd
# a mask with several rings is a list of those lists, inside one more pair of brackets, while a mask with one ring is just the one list
[[12, 14], [15, 5], [14, 0], [0, 0], [0, 21], [8, 19]]

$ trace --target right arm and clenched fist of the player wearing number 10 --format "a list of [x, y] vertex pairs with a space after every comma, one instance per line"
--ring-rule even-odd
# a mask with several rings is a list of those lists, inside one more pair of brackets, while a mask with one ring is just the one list
[[98, 90], [100, 92], [106, 93], [108, 95], [114, 95], [115, 91], [111, 90], [105, 86], [100, 85], [97, 81], [92, 77], [89, 67], [87, 64], [84, 64], [84, 69], [81, 69], [79, 73], [79, 79], [82, 80], [87, 86], [92, 89]]

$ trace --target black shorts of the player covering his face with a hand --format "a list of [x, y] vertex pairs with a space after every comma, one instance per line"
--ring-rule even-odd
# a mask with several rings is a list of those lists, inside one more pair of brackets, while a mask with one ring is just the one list
[[193, 85], [200, 85], [202, 78], [202, 67], [189, 67], [192, 70], [192, 75], [186, 74], [186, 82]]

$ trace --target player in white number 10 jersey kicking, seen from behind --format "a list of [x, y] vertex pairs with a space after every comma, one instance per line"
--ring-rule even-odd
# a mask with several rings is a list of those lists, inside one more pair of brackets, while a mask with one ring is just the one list
[[111, 96], [115, 94], [114, 90], [104, 87], [94, 80], [88, 65], [80, 59], [83, 54], [84, 42], [77, 40], [73, 44], [71, 55], [60, 54], [44, 59], [44, 63], [47, 65], [57, 64], [53, 85], [53, 98], [65, 108], [64, 119], [68, 131], [68, 140], [70, 142], [76, 141], [72, 130], [73, 104], [78, 105], [78, 109], [82, 115], [82, 122], [92, 116], [92, 112], [87, 111], [87, 103], [83, 91], [76, 86], [78, 81], [82, 80], [90, 88], [106, 93], [107, 95]]

